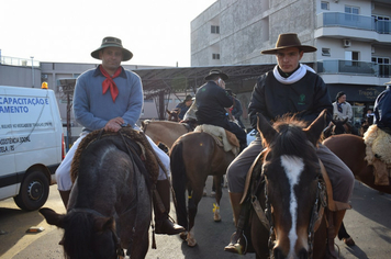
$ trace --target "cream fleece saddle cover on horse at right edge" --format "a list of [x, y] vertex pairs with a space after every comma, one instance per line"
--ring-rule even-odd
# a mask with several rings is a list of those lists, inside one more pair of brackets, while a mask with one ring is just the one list
[[391, 135], [371, 125], [364, 134], [368, 165], [373, 166], [375, 184], [389, 185], [391, 176]]

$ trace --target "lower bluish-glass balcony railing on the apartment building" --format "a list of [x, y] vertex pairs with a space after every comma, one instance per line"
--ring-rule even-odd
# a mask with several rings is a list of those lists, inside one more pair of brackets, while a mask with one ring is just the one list
[[320, 74], [344, 74], [350, 76], [389, 78], [390, 71], [391, 65], [356, 60], [322, 60], [317, 63], [317, 72]]

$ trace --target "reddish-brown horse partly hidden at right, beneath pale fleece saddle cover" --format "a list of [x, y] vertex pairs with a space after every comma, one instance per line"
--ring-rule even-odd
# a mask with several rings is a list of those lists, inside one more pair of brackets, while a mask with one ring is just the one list
[[391, 194], [391, 185], [375, 184], [373, 167], [365, 160], [366, 144], [362, 137], [344, 134], [329, 137], [323, 144], [350, 168], [358, 181], [375, 190]]

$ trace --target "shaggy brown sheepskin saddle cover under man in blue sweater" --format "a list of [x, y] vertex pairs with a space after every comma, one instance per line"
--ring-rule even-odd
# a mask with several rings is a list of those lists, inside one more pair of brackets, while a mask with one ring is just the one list
[[[113, 136], [122, 136], [124, 137], [124, 145], [131, 145], [131, 142], [135, 142], [141, 146], [142, 151], [137, 154], [138, 156], [142, 157], [142, 160], [144, 162], [145, 168], [149, 172], [149, 176], [152, 177], [152, 181], [155, 183], [157, 181], [157, 177], [159, 174], [159, 165], [161, 165], [161, 161], [159, 158], [155, 155], [155, 151], [153, 150], [153, 147], [150, 146], [148, 139], [146, 138], [145, 134], [143, 132], [133, 130], [132, 127], [123, 127], [121, 128], [118, 133], [113, 132], [105, 132], [103, 130], [97, 130], [91, 133], [89, 133], [79, 144], [77, 150], [75, 151], [75, 156], [71, 162], [71, 168], [70, 168], [70, 177], [71, 181], [75, 182], [77, 176], [79, 174], [79, 165], [80, 165], [80, 159], [83, 150], [88, 148], [89, 145], [93, 144], [96, 140], [100, 138], [105, 138], [105, 137], [113, 137]], [[122, 149], [125, 153], [129, 153], [126, 148]], [[131, 156], [131, 154], [129, 154]]]

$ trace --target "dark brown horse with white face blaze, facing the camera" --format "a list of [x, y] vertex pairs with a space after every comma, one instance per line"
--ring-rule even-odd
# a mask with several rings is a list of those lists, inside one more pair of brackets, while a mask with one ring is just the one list
[[[325, 111], [306, 128], [294, 119], [273, 126], [258, 115], [266, 147], [254, 167], [253, 203], [247, 235], [260, 258], [325, 258], [327, 252], [325, 188], [315, 153], [325, 124]], [[339, 227], [345, 211], [333, 222]], [[246, 233], [246, 232], [245, 232]], [[334, 243], [333, 243], [334, 244]]]

